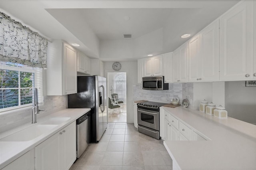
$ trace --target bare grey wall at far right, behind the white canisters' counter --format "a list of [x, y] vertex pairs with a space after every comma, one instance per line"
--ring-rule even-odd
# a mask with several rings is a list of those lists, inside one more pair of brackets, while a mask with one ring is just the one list
[[245, 87], [245, 81], [225, 82], [228, 117], [256, 125], [256, 87]]

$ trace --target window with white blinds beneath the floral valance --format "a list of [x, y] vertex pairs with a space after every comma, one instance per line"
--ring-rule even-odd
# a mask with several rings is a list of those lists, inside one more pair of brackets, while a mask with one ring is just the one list
[[31, 106], [35, 87], [38, 88], [38, 103], [43, 103], [42, 69], [0, 63], [0, 111]]

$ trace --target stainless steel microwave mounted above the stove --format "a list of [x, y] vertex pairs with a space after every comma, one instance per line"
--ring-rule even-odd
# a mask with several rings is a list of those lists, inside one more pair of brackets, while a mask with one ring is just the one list
[[142, 89], [169, 90], [169, 83], [164, 83], [164, 76], [142, 77]]

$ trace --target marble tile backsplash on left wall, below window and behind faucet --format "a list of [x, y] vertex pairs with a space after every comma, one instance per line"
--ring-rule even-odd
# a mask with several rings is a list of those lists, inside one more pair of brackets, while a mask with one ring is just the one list
[[[67, 96], [45, 96], [44, 105], [39, 109], [44, 110], [38, 117], [52, 114], [67, 107]], [[32, 121], [31, 109], [19, 109], [18, 111], [8, 112], [0, 115], [0, 132], [4, 132], [16, 126]]]

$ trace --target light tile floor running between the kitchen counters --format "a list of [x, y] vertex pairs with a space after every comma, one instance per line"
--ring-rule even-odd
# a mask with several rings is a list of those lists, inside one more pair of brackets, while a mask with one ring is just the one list
[[70, 170], [172, 170], [163, 140], [137, 131], [133, 123], [108, 123], [100, 142], [89, 144]]

